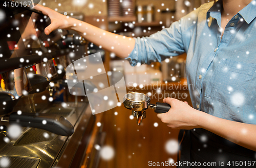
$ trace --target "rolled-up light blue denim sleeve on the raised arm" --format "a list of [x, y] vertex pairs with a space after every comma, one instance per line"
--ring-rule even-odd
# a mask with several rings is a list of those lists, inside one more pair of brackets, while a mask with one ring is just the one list
[[[178, 56], [185, 53], [184, 42], [187, 44], [188, 36], [184, 36], [185, 30], [193, 24], [190, 17], [196, 17], [197, 11], [193, 11], [188, 15], [175, 21], [169, 28], [165, 28], [149, 37], [135, 38], [134, 50], [126, 58], [132, 66], [141, 64], [150, 64], [151, 62]], [[188, 19], [189, 18], [189, 19]]]

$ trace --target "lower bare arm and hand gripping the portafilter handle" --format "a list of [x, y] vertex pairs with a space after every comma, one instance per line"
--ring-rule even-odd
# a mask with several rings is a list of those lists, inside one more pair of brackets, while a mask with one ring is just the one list
[[164, 103], [172, 108], [157, 114], [163, 123], [173, 129], [203, 128], [238, 145], [256, 151], [256, 125], [219, 118], [190, 107], [187, 103], [166, 98]]

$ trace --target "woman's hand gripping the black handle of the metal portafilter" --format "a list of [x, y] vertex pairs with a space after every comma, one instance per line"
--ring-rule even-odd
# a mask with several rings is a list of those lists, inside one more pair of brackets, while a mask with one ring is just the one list
[[199, 128], [198, 115], [202, 111], [190, 107], [187, 102], [182, 102], [173, 98], [163, 100], [171, 106], [166, 113], [157, 114], [161, 121], [173, 129], [194, 129]]

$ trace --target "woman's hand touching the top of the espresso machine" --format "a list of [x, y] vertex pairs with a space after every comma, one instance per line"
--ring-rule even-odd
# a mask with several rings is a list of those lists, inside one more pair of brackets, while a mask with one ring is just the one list
[[74, 26], [74, 18], [62, 15], [50, 8], [37, 4], [33, 9], [41, 11], [42, 14], [47, 15], [51, 19], [51, 24], [45, 28], [46, 35], [49, 35], [56, 29], [71, 29]]

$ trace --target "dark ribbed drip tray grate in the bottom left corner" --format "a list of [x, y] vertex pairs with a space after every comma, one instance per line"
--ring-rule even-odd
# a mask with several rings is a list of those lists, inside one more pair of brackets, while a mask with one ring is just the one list
[[[36, 168], [40, 162], [39, 158], [22, 157], [22, 156], [2, 156], [0, 161], [8, 168]], [[2, 166], [0, 165], [0, 168]]]

